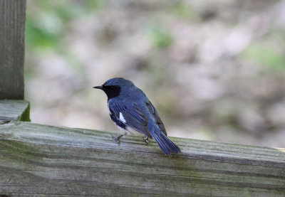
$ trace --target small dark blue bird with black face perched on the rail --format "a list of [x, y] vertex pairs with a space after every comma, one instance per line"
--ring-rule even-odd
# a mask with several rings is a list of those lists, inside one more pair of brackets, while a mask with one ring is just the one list
[[165, 154], [181, 152], [180, 148], [167, 138], [165, 126], [155, 107], [133, 82], [124, 78], [111, 78], [103, 85], [93, 88], [106, 93], [110, 117], [124, 131], [124, 134], [115, 138], [116, 142], [119, 143], [120, 137], [134, 129], [145, 135], [145, 142], [153, 137]]

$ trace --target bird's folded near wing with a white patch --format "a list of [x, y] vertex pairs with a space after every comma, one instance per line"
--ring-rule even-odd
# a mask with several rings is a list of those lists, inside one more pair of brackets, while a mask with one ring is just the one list
[[108, 105], [110, 113], [115, 115], [118, 121], [123, 122], [128, 127], [152, 138], [147, 129], [147, 117], [137, 105], [123, 105], [122, 103], [118, 105], [111, 101], [108, 102]]

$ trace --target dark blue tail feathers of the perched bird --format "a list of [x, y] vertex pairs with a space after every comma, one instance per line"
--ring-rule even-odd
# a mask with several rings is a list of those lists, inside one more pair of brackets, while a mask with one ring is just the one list
[[168, 139], [168, 137], [166, 137], [166, 135], [161, 132], [160, 129], [152, 127], [152, 129], [149, 130], [151, 136], [155, 139], [155, 142], [157, 142], [160, 149], [162, 149], [165, 154], [178, 154], [181, 152], [180, 148], [177, 147], [177, 145], [174, 144], [170, 139]]

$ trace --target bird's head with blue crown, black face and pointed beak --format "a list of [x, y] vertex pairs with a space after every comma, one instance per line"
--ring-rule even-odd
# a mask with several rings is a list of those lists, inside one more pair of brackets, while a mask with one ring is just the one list
[[128, 88], [131, 85], [133, 85], [133, 82], [130, 80], [125, 80], [124, 78], [111, 78], [110, 80], [104, 82], [103, 85], [98, 85], [93, 88], [103, 90], [106, 93], [108, 99], [110, 99], [117, 97], [120, 95], [120, 92], [122, 90]]

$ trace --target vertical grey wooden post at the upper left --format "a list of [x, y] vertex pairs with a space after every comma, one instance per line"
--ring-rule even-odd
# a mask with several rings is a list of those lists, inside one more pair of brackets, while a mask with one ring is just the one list
[[0, 99], [24, 99], [26, 0], [0, 1]]

